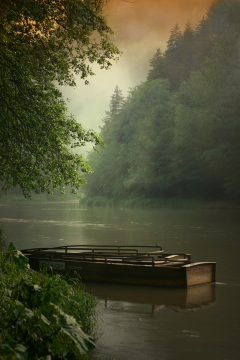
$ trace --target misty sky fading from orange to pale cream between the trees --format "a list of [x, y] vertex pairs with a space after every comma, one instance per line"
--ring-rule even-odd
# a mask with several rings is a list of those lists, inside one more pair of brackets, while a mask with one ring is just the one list
[[94, 66], [90, 85], [77, 81], [76, 88], [62, 88], [69, 111], [85, 129], [99, 132], [118, 86], [126, 97], [130, 88], [146, 80], [149, 60], [157, 48], [163, 52], [172, 28], [182, 30], [190, 21], [195, 27], [206, 15], [213, 0], [109, 0], [104, 16], [114, 31], [115, 45], [123, 52], [110, 70]]

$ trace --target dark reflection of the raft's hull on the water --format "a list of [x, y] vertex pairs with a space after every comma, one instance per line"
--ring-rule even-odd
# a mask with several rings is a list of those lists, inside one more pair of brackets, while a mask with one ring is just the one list
[[[202, 309], [216, 300], [215, 284], [190, 287], [188, 289], [165, 289], [146, 286], [87, 283], [86, 290], [104, 301], [105, 307], [136, 312], [136, 307], [148, 305], [147, 312], [163, 307], [172, 309]], [[144, 310], [145, 311], [145, 310]]]

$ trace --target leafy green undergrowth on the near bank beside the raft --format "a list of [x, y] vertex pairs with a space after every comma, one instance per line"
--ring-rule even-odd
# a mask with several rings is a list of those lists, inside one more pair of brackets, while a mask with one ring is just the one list
[[35, 272], [13, 244], [0, 255], [0, 360], [86, 359], [96, 299], [77, 279]]

